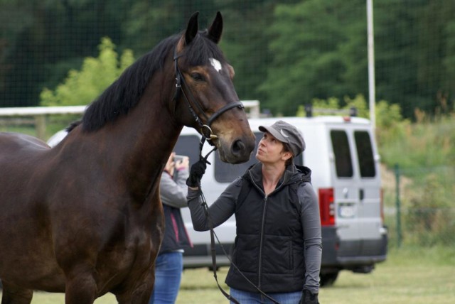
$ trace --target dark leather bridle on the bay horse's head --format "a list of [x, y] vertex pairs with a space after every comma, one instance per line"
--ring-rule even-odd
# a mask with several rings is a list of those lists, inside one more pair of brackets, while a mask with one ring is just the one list
[[[210, 128], [213, 121], [215, 121], [215, 119], [217, 119], [221, 114], [223, 114], [226, 111], [229, 111], [232, 108], [244, 109], [245, 106], [240, 101], [230, 102], [230, 103], [226, 104], [224, 107], [221, 107], [220, 109], [218, 109], [212, 116], [208, 117], [207, 115], [205, 115], [202, 105], [200, 104], [200, 102], [198, 102], [198, 100], [196, 100], [196, 98], [194, 98], [193, 93], [191, 93], [191, 89], [189, 89], [189, 87], [185, 81], [185, 77], [183, 77], [180, 69], [178, 68], [178, 58], [181, 58], [182, 55], [183, 55], [183, 53], [181, 53], [179, 55], [177, 54], [177, 46], [176, 46], [173, 50], [173, 62], [174, 62], [174, 67], [175, 67], [175, 71], [176, 71], [176, 92], [172, 99], [173, 100], [173, 109], [175, 111], [176, 103], [178, 102], [178, 99], [180, 98], [181, 94], [183, 94], [183, 99], [185, 99], [186, 104], [188, 105], [188, 109], [191, 112], [191, 115], [193, 115], [193, 118], [198, 123], [200, 134], [202, 134], [202, 138], [201, 138], [202, 144], [200, 147], [200, 149], [202, 151], [202, 145], [205, 140], [208, 141], [208, 143], [210, 143], [211, 146], [215, 146], [215, 144], [213, 143], [213, 140], [218, 139], [218, 136], [213, 134], [213, 131]], [[185, 90], [187, 91], [187, 93], [190, 97], [189, 99], [188, 99], [187, 94], [185, 93]], [[191, 100], [191, 102], [190, 102], [190, 100]], [[196, 107], [198, 109], [197, 113], [193, 107]], [[202, 117], [203, 119], [201, 119], [198, 114], [203, 116]], [[203, 121], [205, 121], [205, 124], [203, 123]], [[215, 149], [216, 149], [216, 147], [213, 149], [213, 151], [215, 151]], [[210, 153], [213, 151], [210, 151]]]

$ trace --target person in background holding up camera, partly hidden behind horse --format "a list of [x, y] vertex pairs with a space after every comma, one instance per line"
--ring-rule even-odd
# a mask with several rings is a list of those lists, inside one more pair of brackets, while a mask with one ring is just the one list
[[183, 249], [191, 245], [180, 209], [187, 207], [189, 159], [171, 153], [159, 185], [166, 226], [155, 263], [155, 285], [149, 304], [175, 303], [183, 271]]

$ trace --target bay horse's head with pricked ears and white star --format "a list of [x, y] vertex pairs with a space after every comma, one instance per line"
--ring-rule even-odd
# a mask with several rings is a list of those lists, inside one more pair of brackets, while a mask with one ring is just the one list
[[243, 163], [255, 148], [255, 135], [232, 83], [234, 69], [218, 48], [222, 32], [220, 12], [205, 31], [199, 31], [198, 13], [189, 19], [173, 51], [177, 85], [172, 110], [181, 124], [218, 148], [222, 161]]

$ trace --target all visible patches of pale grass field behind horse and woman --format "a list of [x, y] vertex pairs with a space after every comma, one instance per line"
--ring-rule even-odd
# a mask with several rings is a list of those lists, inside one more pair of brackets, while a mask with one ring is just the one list
[[[223, 282], [228, 268], [218, 271]], [[225, 291], [228, 287], [222, 284]], [[373, 273], [342, 271], [336, 283], [321, 288], [320, 303], [455, 303], [455, 249], [392, 249], [387, 261]], [[63, 294], [36, 292], [33, 304], [64, 303]], [[96, 304], [117, 303], [108, 294]], [[183, 273], [178, 304], [227, 303], [218, 290], [213, 273], [206, 268]]]

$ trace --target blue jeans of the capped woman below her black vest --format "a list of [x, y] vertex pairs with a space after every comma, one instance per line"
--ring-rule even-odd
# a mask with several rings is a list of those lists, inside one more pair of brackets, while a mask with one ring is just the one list
[[[241, 304], [272, 304], [272, 300], [269, 300], [261, 293], [250, 293], [249, 291], [239, 291], [235, 288], [230, 288], [230, 295], [232, 295], [238, 303]], [[296, 291], [294, 293], [267, 293], [269, 297], [276, 300], [279, 304], [298, 304], [302, 292]], [[233, 302], [231, 302], [232, 304]]]

